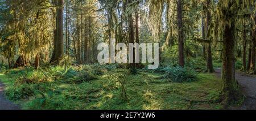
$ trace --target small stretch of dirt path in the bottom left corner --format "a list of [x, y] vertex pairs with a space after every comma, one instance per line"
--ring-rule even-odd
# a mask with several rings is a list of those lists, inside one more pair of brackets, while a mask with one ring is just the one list
[[19, 106], [5, 98], [4, 85], [0, 82], [0, 110], [18, 110]]

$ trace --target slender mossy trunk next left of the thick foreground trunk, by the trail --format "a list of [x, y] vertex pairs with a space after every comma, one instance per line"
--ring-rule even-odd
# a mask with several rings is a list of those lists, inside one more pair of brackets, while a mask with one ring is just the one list
[[[210, 40], [210, 0], [207, 0], [207, 20], [206, 20], [206, 33], [207, 33], [207, 39]], [[213, 64], [212, 64], [212, 44], [211, 42], [208, 42], [207, 44], [207, 72], [214, 72]]]

